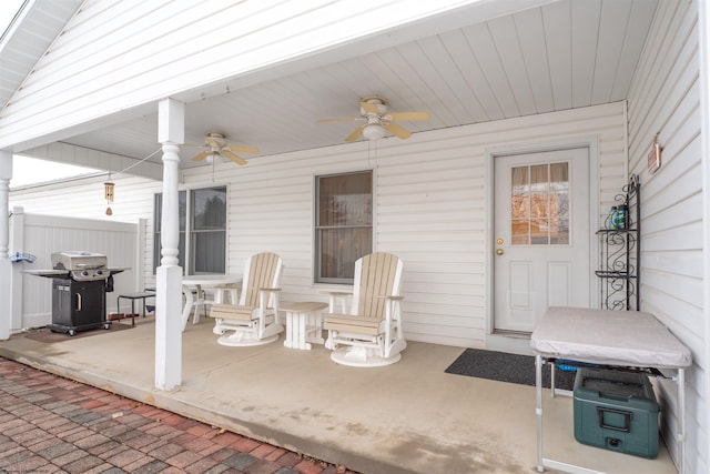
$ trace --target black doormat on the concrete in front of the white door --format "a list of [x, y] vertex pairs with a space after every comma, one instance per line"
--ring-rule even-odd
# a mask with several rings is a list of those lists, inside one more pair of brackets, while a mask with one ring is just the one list
[[[535, 357], [531, 355], [467, 349], [445, 372], [535, 386]], [[558, 370], [555, 374], [555, 387], [572, 390], [575, 374], [572, 371]], [[550, 387], [549, 364], [542, 365], [542, 386]]]

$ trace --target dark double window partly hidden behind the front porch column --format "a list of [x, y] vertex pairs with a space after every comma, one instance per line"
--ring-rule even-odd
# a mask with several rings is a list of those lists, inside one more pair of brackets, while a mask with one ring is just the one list
[[[187, 200], [190, 195], [190, 200]], [[155, 194], [153, 271], [161, 261], [162, 194]], [[179, 265], [186, 274], [224, 274], [226, 262], [226, 188], [179, 192]], [[190, 219], [187, 219], [190, 216]], [[186, 251], [189, 249], [189, 251]], [[185, 262], [187, 265], [185, 266]]]

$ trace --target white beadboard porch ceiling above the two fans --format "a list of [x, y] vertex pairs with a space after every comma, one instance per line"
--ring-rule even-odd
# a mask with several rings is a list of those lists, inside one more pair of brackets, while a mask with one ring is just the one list
[[[372, 51], [368, 43], [359, 56], [348, 44], [345, 59], [246, 87], [225, 81], [204, 100], [186, 91], [175, 95], [186, 103], [185, 140], [202, 143], [205, 131], [224, 131], [230, 144], [260, 149], [248, 160], [339, 144], [357, 122], [318, 120], [356, 115], [359, 99], [372, 94], [394, 112], [429, 112], [428, 122], [399, 122], [412, 132], [620, 101], [657, 3], [551, 1], [396, 47]], [[4, 81], [0, 94], [7, 102]], [[140, 160], [159, 148], [156, 137], [155, 113], [64, 142]], [[190, 160], [195, 153], [183, 148], [181, 167], [199, 165]], [[151, 161], [160, 163], [160, 154]]]

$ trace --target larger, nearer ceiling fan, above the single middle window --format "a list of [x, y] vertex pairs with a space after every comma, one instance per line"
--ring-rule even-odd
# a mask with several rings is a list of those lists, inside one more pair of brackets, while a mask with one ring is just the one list
[[387, 112], [387, 100], [379, 95], [367, 95], [359, 101], [359, 117], [344, 117], [339, 119], [323, 119], [318, 122], [348, 122], [362, 121], [357, 128], [345, 138], [346, 142], [353, 142], [361, 135], [367, 140], [378, 140], [385, 137], [386, 132], [400, 139], [408, 139], [412, 133], [395, 120], [414, 121], [429, 120], [427, 112]]

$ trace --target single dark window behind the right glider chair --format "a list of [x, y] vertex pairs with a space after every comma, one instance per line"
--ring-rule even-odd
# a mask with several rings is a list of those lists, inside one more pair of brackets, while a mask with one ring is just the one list
[[373, 173], [316, 177], [315, 195], [315, 282], [352, 284], [373, 248]]

